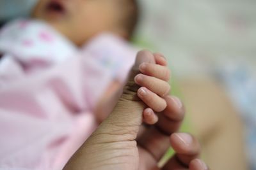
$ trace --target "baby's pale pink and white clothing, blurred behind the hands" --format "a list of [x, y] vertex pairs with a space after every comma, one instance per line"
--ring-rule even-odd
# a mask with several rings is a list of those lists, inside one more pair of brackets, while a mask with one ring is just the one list
[[0, 32], [0, 169], [62, 169], [97, 124], [93, 109], [136, 50], [101, 34], [79, 49], [49, 25], [15, 20]]

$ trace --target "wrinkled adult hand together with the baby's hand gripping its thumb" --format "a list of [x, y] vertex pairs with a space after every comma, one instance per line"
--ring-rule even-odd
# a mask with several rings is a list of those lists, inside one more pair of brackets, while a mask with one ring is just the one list
[[[141, 51], [112, 113], [77, 150], [65, 169], [206, 170], [200, 145], [178, 133], [184, 107], [170, 96], [170, 71], [159, 53]], [[157, 164], [172, 145], [175, 155]]]

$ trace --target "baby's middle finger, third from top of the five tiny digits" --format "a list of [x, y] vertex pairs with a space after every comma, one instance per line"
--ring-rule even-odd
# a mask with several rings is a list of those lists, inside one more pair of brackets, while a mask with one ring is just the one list
[[134, 78], [135, 82], [142, 86], [147, 87], [147, 89], [158, 94], [161, 97], [166, 96], [170, 92], [170, 85], [166, 81], [160, 80], [152, 76], [146, 76], [144, 74], [138, 74]]

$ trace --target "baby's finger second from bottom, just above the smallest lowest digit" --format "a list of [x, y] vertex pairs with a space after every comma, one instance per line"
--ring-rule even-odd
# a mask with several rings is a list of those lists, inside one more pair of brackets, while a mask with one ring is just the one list
[[166, 101], [146, 87], [141, 87], [137, 94], [149, 108], [156, 112], [163, 111], [166, 108]]

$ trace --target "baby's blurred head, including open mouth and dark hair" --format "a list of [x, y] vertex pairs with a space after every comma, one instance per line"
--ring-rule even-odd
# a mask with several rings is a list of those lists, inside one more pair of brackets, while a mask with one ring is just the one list
[[41, 0], [32, 17], [45, 20], [81, 46], [101, 32], [130, 39], [138, 20], [138, 4], [130, 1]]

